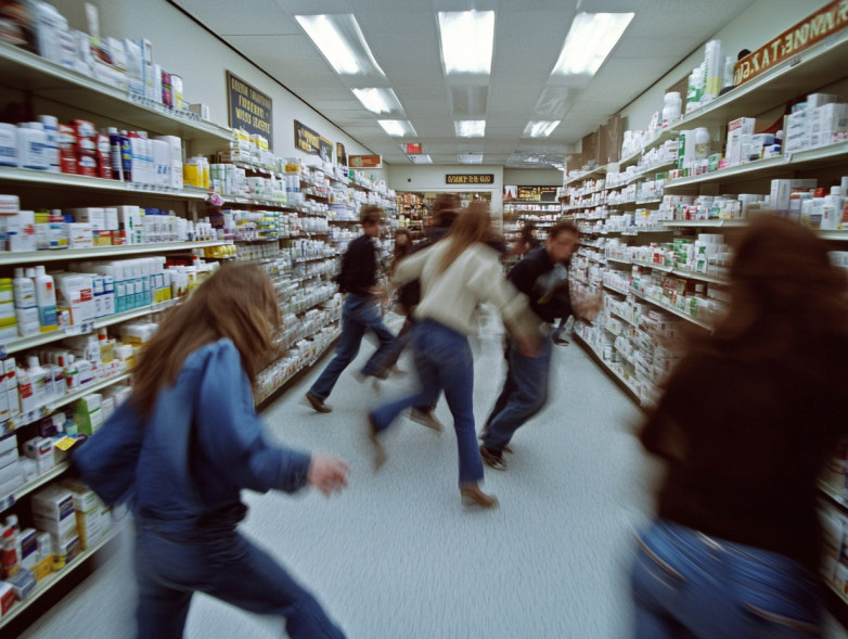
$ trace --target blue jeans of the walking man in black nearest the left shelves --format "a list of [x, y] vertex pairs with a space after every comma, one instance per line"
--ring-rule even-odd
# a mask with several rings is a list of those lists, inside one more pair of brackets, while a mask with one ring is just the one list
[[383, 323], [380, 306], [373, 299], [348, 293], [342, 307], [342, 335], [338, 337], [336, 354], [309, 389], [312, 395], [319, 399], [330, 397], [342, 372], [359, 354], [362, 336], [368, 329], [374, 331], [380, 346], [365, 362], [362, 374], [374, 375], [381, 372], [380, 362], [395, 336]]

